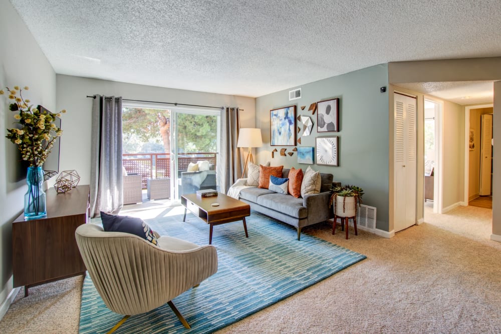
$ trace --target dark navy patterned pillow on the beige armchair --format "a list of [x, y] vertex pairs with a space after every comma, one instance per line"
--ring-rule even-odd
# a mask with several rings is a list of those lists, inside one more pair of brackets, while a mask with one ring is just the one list
[[125, 232], [135, 234], [153, 244], [157, 244], [157, 238], [153, 230], [141, 218], [129, 216], [115, 216], [101, 211], [103, 229], [106, 232]]

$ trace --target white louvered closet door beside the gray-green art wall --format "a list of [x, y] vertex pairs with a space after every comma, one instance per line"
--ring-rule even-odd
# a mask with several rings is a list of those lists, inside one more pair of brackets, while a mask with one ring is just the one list
[[398, 232], [416, 223], [416, 99], [394, 94], [395, 219]]

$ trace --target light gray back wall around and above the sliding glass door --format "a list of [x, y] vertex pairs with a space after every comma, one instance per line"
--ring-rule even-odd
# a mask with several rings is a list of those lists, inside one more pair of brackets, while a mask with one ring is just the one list
[[223, 94], [127, 84], [121, 82], [57, 75], [57, 108], [66, 109], [62, 118], [60, 170], [75, 169], [80, 184], [90, 182], [91, 109], [87, 95], [121, 96], [124, 99], [175, 102], [243, 109], [242, 127], [255, 125], [255, 99]]

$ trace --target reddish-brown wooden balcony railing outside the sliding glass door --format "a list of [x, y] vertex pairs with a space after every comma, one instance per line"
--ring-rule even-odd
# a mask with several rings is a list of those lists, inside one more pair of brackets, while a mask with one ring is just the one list
[[[127, 174], [137, 173], [141, 175], [143, 189], [146, 189], [148, 178], [170, 177], [170, 154], [169, 153], [124, 153], [122, 154], [122, 165]], [[190, 162], [196, 163], [200, 160], [207, 160], [210, 164], [216, 165], [215, 152], [196, 152], [178, 154], [178, 171], [188, 169]]]

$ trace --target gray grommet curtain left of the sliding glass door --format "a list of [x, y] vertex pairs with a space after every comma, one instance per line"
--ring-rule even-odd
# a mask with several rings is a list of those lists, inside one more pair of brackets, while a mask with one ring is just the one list
[[122, 98], [94, 95], [91, 142], [91, 215], [123, 206]]

